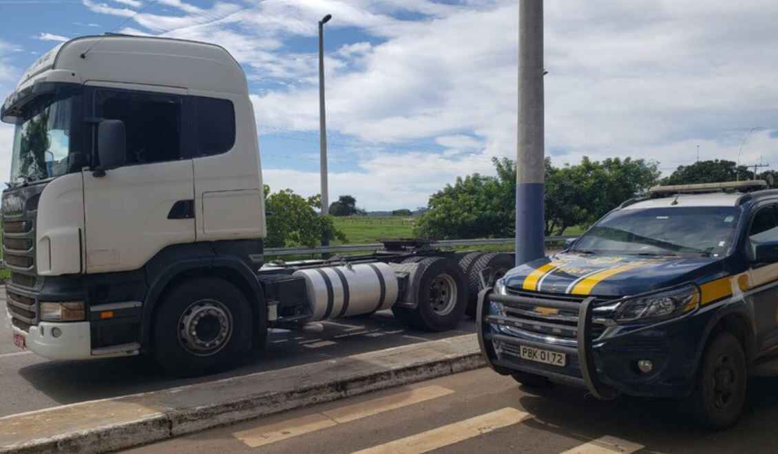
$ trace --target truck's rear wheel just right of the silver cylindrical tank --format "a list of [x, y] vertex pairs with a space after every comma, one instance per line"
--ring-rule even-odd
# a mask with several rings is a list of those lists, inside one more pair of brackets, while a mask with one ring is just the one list
[[443, 257], [421, 260], [411, 285], [418, 306], [393, 308], [394, 316], [421, 330], [445, 331], [457, 327], [467, 306], [468, 287], [453, 260]]

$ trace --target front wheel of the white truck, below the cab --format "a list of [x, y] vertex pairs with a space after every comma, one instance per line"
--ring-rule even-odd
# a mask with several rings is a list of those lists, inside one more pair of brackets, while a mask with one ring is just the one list
[[184, 281], [156, 310], [153, 354], [173, 375], [202, 375], [237, 365], [251, 345], [251, 310], [240, 290], [219, 278]]

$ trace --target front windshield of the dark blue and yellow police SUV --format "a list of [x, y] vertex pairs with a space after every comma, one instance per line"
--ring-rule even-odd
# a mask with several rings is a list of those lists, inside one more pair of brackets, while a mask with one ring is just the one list
[[701, 253], [719, 257], [734, 241], [734, 207], [627, 208], [589, 229], [573, 247], [587, 253]]

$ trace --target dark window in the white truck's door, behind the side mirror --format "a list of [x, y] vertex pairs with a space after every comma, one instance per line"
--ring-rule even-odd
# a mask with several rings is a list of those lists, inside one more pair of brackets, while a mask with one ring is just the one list
[[181, 158], [179, 96], [100, 90], [95, 100], [97, 117], [124, 121], [128, 165]]

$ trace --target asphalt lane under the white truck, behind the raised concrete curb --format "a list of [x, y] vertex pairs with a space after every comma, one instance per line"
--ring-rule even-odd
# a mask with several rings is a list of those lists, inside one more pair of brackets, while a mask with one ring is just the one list
[[0, 287], [0, 417], [40, 410], [66, 403], [142, 393], [195, 382], [272, 371], [314, 361], [341, 358], [426, 340], [468, 334], [471, 320], [447, 333], [408, 330], [391, 311], [364, 319], [323, 323], [318, 333], [272, 331], [266, 351], [256, 352], [246, 364], [230, 372], [196, 379], [170, 379], [146, 358], [96, 361], [49, 361], [30, 352], [19, 352], [11, 342], [5, 314], [5, 288]]

